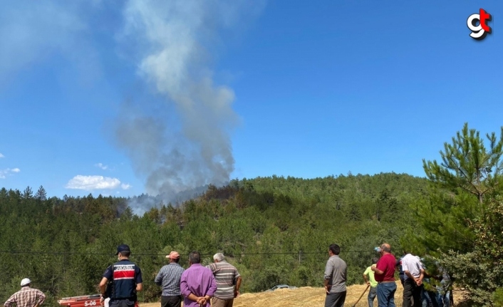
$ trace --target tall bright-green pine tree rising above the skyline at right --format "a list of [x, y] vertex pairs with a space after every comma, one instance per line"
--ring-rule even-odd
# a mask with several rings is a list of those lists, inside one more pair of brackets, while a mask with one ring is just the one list
[[[497, 193], [502, 177], [503, 127], [497, 140], [487, 134], [489, 146], [475, 129], [465, 123], [462, 130], [445, 142], [440, 151], [442, 162], [423, 160], [430, 179], [430, 199], [413, 204], [424, 233], [417, 229], [403, 239], [409, 249], [418, 248], [430, 253], [449, 250], [467, 252], [472, 248], [475, 234], [470, 222], [483, 213], [484, 195]], [[422, 245], [422, 246], [418, 246]], [[411, 246], [416, 245], [416, 246]]]

